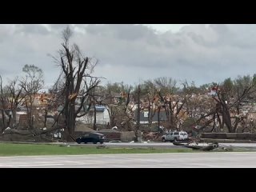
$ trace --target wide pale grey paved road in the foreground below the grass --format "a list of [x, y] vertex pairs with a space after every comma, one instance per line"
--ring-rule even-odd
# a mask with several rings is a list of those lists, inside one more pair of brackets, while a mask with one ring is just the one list
[[87, 154], [0, 157], [7, 168], [166, 168], [256, 167], [255, 152], [184, 154]]

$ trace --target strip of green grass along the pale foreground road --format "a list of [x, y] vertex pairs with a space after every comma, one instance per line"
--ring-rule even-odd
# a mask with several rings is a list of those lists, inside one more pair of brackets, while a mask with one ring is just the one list
[[153, 148], [97, 148], [96, 146], [60, 146], [0, 143], [0, 156], [53, 155], [53, 154], [151, 154], [186, 153], [191, 149], [153, 149]]

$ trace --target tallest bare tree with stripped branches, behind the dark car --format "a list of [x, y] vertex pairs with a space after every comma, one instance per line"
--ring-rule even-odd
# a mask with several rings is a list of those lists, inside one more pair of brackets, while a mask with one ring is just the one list
[[[62, 50], [59, 51], [60, 66], [64, 75], [65, 87], [63, 90], [64, 105], [61, 114], [65, 118], [64, 137], [67, 141], [74, 140], [74, 127], [75, 119], [82, 117], [83, 114], [79, 114], [82, 110], [83, 103], [86, 98], [93, 92], [94, 88], [98, 86], [100, 80], [97, 77], [91, 76], [94, 66], [97, 62], [93, 62], [92, 58], [84, 57], [77, 45], [70, 46], [70, 38], [72, 31], [69, 27], [66, 27], [62, 31]], [[82, 85], [85, 88], [81, 90]], [[81, 104], [78, 109], [75, 108], [75, 101], [79, 94], [81, 96]]]

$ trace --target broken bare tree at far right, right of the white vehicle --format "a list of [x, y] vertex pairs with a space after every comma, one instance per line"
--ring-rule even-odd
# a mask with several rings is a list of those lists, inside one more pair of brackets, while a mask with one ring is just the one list
[[[256, 78], [250, 76], [238, 77], [234, 81], [226, 78], [224, 82], [212, 86], [212, 99], [215, 105], [209, 112], [198, 118], [197, 122], [205, 121], [205, 126], [213, 123], [213, 129], [216, 122], [219, 124], [220, 130], [226, 126], [228, 132], [235, 133], [238, 127], [246, 128], [248, 124], [248, 111], [243, 113], [242, 103], [248, 100], [256, 93]], [[216, 121], [217, 120], [217, 121]]]

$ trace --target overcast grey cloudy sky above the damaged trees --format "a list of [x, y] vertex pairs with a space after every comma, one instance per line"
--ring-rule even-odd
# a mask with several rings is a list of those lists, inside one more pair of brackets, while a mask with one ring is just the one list
[[[67, 25], [0, 25], [2, 80], [34, 64], [46, 86], [58, 78], [52, 54], [61, 48]], [[256, 25], [70, 25], [71, 42], [98, 59], [95, 76], [130, 85], [171, 77], [196, 85], [256, 73]]]

